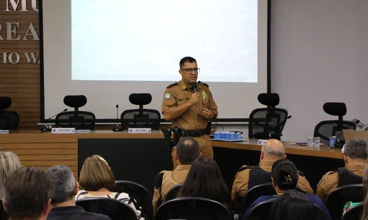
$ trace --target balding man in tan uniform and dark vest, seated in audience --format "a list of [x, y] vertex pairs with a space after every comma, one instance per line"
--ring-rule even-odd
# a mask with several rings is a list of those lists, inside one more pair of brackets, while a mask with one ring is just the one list
[[[261, 150], [259, 166], [242, 166], [237, 172], [232, 189], [232, 199], [237, 201], [243, 197], [248, 189], [264, 184], [271, 183], [272, 164], [280, 159], [285, 159], [285, 146], [276, 139], [268, 140]], [[313, 194], [313, 189], [302, 173], [299, 173], [297, 187], [303, 189], [306, 193]]]

